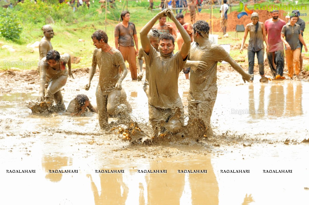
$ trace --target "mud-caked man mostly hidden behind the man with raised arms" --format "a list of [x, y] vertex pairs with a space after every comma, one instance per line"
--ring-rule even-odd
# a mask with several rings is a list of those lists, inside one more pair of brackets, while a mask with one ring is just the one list
[[[159, 37], [160, 37], [160, 33], [159, 30], [156, 28], [152, 28], [149, 33], [148, 33], [148, 38], [150, 40], [150, 44], [152, 47], [155, 48], [155, 50], [157, 52], [159, 52]], [[139, 75], [137, 77], [137, 80], [140, 81], [142, 80], [143, 77], [143, 73], [142, 73], [142, 68], [143, 68], [143, 48], [140, 48], [138, 51], [138, 70], [139, 70]], [[146, 65], [145, 66], [145, 70], [146, 70], [146, 77], [145, 77], [145, 81], [144, 81], [144, 86], [143, 86], [143, 90], [145, 91], [147, 97], [149, 95], [149, 83], [148, 83], [148, 79], [149, 79], [149, 68]]]

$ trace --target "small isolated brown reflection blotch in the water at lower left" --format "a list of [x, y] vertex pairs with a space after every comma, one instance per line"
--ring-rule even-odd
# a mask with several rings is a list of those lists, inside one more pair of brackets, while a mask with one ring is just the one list
[[59, 170], [64, 166], [71, 166], [72, 159], [68, 157], [53, 157], [44, 155], [42, 158], [42, 167], [46, 173], [45, 178], [52, 182], [59, 182], [62, 178], [61, 173], [48, 173], [48, 170]]

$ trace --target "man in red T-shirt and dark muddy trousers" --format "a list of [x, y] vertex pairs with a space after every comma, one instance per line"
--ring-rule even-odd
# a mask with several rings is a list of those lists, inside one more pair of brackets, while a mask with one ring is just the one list
[[283, 76], [284, 68], [284, 47], [281, 41], [281, 30], [286, 22], [279, 18], [279, 11], [273, 10], [270, 12], [272, 18], [265, 21], [265, 32], [269, 44], [267, 59], [273, 76]]

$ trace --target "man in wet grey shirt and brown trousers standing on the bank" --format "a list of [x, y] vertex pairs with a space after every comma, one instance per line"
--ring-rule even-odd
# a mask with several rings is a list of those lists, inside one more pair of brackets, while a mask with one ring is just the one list
[[[128, 61], [132, 80], [137, 80], [136, 56], [138, 55], [138, 38], [134, 23], [130, 21], [129, 11], [122, 11], [120, 14], [121, 23], [115, 27], [115, 46]], [[134, 43], [136, 49], [134, 48]], [[119, 70], [121, 72], [121, 70]]]

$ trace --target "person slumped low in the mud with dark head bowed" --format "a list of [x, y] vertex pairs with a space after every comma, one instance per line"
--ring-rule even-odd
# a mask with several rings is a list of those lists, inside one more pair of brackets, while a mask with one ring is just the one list
[[98, 113], [94, 106], [91, 105], [87, 95], [79, 94], [73, 100], [71, 100], [68, 108], [66, 109], [66, 115], [80, 116], [85, 112]]

